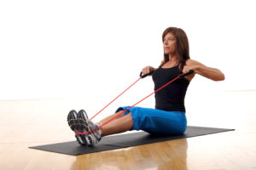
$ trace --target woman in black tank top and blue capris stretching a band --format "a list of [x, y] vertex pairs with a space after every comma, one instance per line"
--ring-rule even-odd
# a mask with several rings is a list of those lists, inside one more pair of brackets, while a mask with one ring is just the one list
[[79, 144], [94, 146], [103, 136], [113, 133], [123, 133], [128, 130], [143, 130], [148, 133], [182, 134], [187, 127], [185, 116], [184, 98], [189, 82], [199, 74], [213, 81], [224, 80], [224, 74], [215, 68], [202, 65], [200, 62], [189, 58], [189, 41], [186, 33], [176, 27], [169, 27], [162, 35], [164, 47], [164, 59], [159, 68], [146, 66], [143, 75], [154, 71], [152, 77], [154, 90], [170, 82], [178, 74], [193, 70], [194, 73], [187, 77], [172, 82], [155, 94], [155, 109], [132, 107], [120, 107], [115, 114], [106, 117], [101, 122], [91, 122], [84, 110], [70, 111], [67, 121], [71, 129], [76, 133], [88, 133], [108, 122], [122, 111], [124, 114], [116, 117], [95, 132], [90, 134], [76, 134]]

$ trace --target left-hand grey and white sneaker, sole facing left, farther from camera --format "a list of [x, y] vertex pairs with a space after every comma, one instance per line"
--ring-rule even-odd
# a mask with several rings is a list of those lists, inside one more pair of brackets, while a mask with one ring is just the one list
[[[69, 111], [67, 115], [67, 122], [69, 127], [75, 132], [84, 133], [82, 126], [79, 125], [78, 113], [76, 111]], [[75, 134], [75, 137], [79, 144], [87, 145], [84, 134]]]

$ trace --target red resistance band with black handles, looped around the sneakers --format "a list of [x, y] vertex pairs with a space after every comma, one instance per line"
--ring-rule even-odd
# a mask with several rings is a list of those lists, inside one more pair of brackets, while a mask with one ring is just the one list
[[[155, 90], [152, 94], [157, 93], [158, 91], [160, 91], [160, 89], [165, 88], [167, 85], [169, 85], [169, 84], [171, 84], [172, 82], [176, 81], [178, 78], [186, 77], [186, 76], [188, 76], [189, 74], [192, 74], [193, 72], [194, 72], [193, 70], [190, 70], [188, 73], [183, 73], [183, 74], [178, 75], [176, 78], [172, 79], [172, 81], [167, 82], [165, 85], [163, 85], [162, 87], [160, 87], [160, 88], [158, 88], [157, 90]], [[137, 79], [136, 82], [138, 82], [139, 80], [141, 80], [141, 79], [144, 78], [144, 77], [148, 77], [148, 75], [151, 75], [152, 73], [153, 73], [153, 71], [151, 71], [151, 72], [149, 72], [148, 74], [142, 76], [142, 72], [141, 72], [140, 78]], [[133, 82], [133, 83], [131, 84], [131, 86], [133, 86], [136, 82]], [[128, 88], [126, 88], [124, 92], [122, 92], [121, 94], [119, 94], [119, 95], [118, 95], [115, 99], [113, 99], [108, 105], [112, 104], [114, 100], [118, 99], [118, 98], [119, 98], [122, 94], [124, 94], [129, 88], [131, 88], [131, 86], [129, 86]], [[147, 99], [147, 98], [148, 98], [149, 96], [151, 96], [152, 94], [149, 94], [149, 95], [146, 96], [145, 98], [139, 100], [136, 104], [131, 105], [131, 107], [129, 107], [129, 108], [126, 109], [125, 111], [130, 110], [132, 107], [134, 107], [135, 105], [141, 103], [144, 99]], [[100, 112], [102, 112], [106, 107], [108, 107], [108, 105], [106, 105], [101, 111], [99, 111], [98, 113], [96, 113], [95, 116], [97, 116], [97, 115], [98, 115]], [[112, 119], [110, 119], [108, 122], [111, 122], [111, 121], [113, 121], [113, 119], [115, 119], [116, 117], [118, 117], [118, 116], [124, 114], [125, 111], [122, 111], [122, 112], [119, 113], [117, 116], [114, 116], [114, 117], [113, 117]], [[90, 120], [93, 119], [95, 116], [92, 116], [92, 118], [90, 118]], [[96, 127], [96, 129], [92, 130], [91, 132], [88, 132], [88, 133], [76, 133], [76, 134], [90, 134], [90, 133], [94, 133], [97, 129], [103, 127], [103, 126], [106, 125], [108, 122], [104, 122], [101, 126]]]

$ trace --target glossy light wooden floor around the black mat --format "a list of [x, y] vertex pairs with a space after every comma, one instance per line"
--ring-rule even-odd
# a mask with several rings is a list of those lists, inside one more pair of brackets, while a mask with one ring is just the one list
[[189, 125], [236, 131], [82, 156], [28, 147], [74, 140], [66, 116], [84, 99], [2, 100], [0, 169], [256, 169], [256, 91], [196, 95], [187, 104]]

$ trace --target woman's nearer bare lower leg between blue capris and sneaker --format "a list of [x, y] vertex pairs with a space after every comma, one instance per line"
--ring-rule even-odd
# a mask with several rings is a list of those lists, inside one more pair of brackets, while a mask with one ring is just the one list
[[110, 134], [114, 134], [114, 133], [123, 133], [125, 131], [130, 130], [132, 126], [133, 126], [133, 120], [132, 120], [131, 113], [125, 116], [119, 116], [119, 118], [113, 119], [113, 121], [108, 122], [106, 125], [102, 127], [101, 129], [102, 137]]

